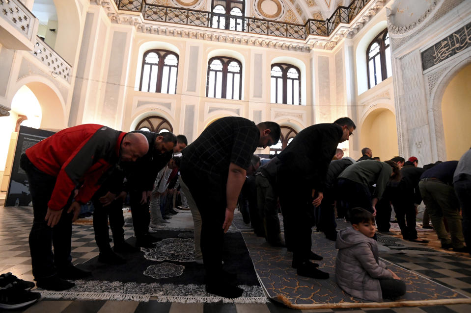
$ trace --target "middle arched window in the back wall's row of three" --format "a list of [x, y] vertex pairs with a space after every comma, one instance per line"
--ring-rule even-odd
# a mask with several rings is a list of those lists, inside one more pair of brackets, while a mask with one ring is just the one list
[[206, 96], [242, 99], [242, 64], [239, 60], [225, 56], [217, 56], [209, 60]]

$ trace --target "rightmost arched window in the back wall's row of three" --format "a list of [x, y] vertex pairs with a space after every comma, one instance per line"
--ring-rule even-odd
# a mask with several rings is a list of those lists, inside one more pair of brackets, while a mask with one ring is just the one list
[[270, 95], [272, 103], [301, 103], [301, 71], [291, 64], [272, 65]]

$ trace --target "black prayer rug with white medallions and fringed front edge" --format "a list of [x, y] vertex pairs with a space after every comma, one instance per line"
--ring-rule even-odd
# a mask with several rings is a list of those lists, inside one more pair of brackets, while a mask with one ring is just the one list
[[[223, 268], [237, 273], [244, 293], [227, 299], [205, 291], [204, 267], [194, 262], [193, 232], [162, 230], [152, 234], [156, 247], [123, 255], [123, 265], [107, 265], [92, 258], [79, 267], [91, 270], [92, 276], [74, 281], [76, 286], [62, 292], [42, 291], [46, 298], [106, 299], [160, 302], [230, 302], [265, 303], [241, 233], [227, 233], [224, 238]], [[134, 238], [128, 240], [134, 243]]]

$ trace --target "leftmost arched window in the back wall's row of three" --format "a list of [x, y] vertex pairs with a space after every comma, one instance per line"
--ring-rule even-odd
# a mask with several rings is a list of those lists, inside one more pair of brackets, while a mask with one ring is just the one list
[[175, 94], [178, 55], [172, 51], [152, 49], [144, 53], [140, 73], [140, 91]]

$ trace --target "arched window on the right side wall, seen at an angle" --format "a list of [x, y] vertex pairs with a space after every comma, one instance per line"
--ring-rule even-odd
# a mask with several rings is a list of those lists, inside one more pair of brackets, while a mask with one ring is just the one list
[[383, 30], [366, 49], [368, 89], [391, 76], [391, 48], [388, 29]]

